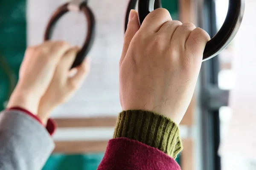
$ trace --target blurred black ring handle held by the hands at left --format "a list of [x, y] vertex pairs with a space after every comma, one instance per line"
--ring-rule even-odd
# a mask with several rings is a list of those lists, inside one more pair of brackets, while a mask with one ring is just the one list
[[[69, 11], [68, 5], [69, 5], [69, 3], [66, 3], [66, 4], [60, 6], [52, 15], [51, 19], [49, 20], [49, 23], [47, 24], [47, 28], [46, 28], [46, 31], [44, 34], [45, 41], [51, 39], [52, 32], [55, 28], [56, 23], [64, 14], [66, 14]], [[84, 13], [84, 15], [86, 16], [88, 31], [87, 31], [87, 36], [86, 36], [85, 42], [83, 44], [83, 47], [77, 54], [76, 59], [71, 68], [74, 68], [83, 62], [84, 58], [89, 53], [89, 51], [93, 45], [94, 38], [95, 38], [95, 18], [94, 18], [93, 12], [87, 6], [86, 2], [81, 3], [79, 8], [80, 8], [80, 11], [82, 11]]]

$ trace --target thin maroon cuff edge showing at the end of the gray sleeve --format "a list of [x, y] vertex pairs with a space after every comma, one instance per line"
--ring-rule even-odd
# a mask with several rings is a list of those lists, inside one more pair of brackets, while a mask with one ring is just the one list
[[[23, 113], [26, 113], [27, 115], [29, 115], [32, 118], [36, 119], [42, 126], [44, 126], [43, 122], [38, 118], [38, 116], [34, 115], [30, 111], [27, 111], [26, 109], [23, 109], [23, 108], [20, 108], [20, 107], [12, 107], [12, 108], [8, 108], [6, 110], [8, 110], [8, 111], [10, 111], [10, 110], [22, 111]], [[54, 122], [53, 119], [48, 119], [47, 125], [44, 126], [44, 127], [46, 127], [48, 133], [52, 136], [53, 133], [55, 132], [57, 126], [56, 126], [56, 123]]]

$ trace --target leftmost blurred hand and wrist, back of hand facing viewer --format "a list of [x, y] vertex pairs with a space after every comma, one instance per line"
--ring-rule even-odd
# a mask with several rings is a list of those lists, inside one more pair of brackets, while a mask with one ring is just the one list
[[58, 62], [69, 49], [70, 45], [66, 42], [52, 41], [27, 48], [20, 67], [19, 81], [7, 107], [21, 107], [36, 114]]

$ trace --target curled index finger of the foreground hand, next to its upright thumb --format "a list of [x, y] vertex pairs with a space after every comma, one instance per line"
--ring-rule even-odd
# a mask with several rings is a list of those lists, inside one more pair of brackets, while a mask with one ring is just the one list
[[155, 33], [172, 17], [167, 9], [157, 8], [150, 12], [141, 25], [141, 29], [146, 33]]

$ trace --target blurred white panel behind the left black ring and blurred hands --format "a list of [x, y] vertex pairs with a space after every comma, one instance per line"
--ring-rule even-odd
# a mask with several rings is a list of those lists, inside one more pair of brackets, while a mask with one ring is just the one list
[[[66, 2], [27, 0], [28, 45], [43, 41], [50, 16], [58, 6]], [[117, 116], [121, 111], [118, 67], [127, 5], [128, 0], [89, 0], [88, 6], [96, 18], [96, 39], [89, 53], [90, 75], [77, 94], [54, 111], [53, 117]], [[53, 39], [82, 45], [86, 33], [83, 14], [69, 12], [57, 24]]]

